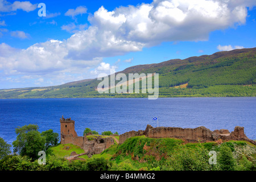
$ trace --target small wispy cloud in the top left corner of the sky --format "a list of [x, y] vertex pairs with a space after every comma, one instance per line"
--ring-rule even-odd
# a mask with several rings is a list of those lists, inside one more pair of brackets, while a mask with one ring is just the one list
[[14, 3], [10, 3], [6, 0], [0, 0], [0, 12], [10, 12], [16, 10], [23, 10], [23, 11], [34, 11], [37, 8], [37, 5], [33, 5], [29, 1], [15, 1]]

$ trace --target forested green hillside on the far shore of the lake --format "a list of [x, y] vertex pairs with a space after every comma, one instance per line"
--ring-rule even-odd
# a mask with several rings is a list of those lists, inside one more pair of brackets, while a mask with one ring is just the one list
[[[137, 65], [118, 73], [159, 73], [159, 97], [255, 97], [256, 48]], [[100, 82], [96, 78], [58, 86], [2, 89], [0, 98], [147, 97], [141, 92], [100, 94], [96, 90]]]

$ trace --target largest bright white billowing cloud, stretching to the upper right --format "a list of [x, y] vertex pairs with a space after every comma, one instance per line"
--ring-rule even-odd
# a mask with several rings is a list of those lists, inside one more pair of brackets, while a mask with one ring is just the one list
[[252, 2], [154, 1], [151, 4], [103, 6], [89, 16], [91, 26], [67, 40], [68, 57], [92, 59], [141, 51], [162, 42], [208, 40], [209, 32], [243, 24]]

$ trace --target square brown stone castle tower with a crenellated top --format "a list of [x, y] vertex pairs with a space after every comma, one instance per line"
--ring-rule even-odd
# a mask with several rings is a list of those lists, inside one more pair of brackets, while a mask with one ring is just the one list
[[75, 121], [71, 120], [71, 118], [65, 119], [62, 116], [62, 118], [60, 118], [60, 135], [61, 139], [65, 138], [66, 135], [77, 137]]

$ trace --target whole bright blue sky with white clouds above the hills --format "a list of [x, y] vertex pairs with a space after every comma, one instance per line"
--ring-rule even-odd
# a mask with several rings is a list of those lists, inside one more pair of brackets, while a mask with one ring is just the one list
[[[38, 16], [39, 3], [46, 16]], [[0, 0], [0, 89], [255, 47], [256, 2]]]

